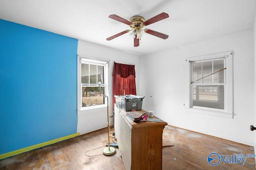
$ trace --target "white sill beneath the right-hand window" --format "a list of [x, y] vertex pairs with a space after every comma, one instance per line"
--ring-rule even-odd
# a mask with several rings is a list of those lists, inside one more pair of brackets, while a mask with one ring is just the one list
[[211, 115], [211, 116], [217, 116], [217, 117], [226, 117], [233, 119], [234, 114], [233, 113], [227, 113], [222, 111], [212, 111], [212, 110], [206, 110], [206, 109], [197, 109], [197, 108], [186, 108], [186, 112], [190, 113], [198, 113], [203, 115]]

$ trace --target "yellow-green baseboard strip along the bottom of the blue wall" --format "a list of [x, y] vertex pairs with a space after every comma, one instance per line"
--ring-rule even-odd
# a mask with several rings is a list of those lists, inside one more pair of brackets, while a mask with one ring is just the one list
[[12, 152], [8, 152], [8, 153], [5, 153], [5, 154], [0, 154], [0, 160], [1, 159], [4, 159], [4, 158], [8, 158], [10, 156], [14, 156], [14, 155], [17, 155], [17, 154], [21, 154], [23, 152], [28, 152], [30, 150], [34, 150], [34, 149], [38, 149], [40, 147], [45, 147], [47, 145], [51, 145], [51, 144], [54, 144], [54, 143], [57, 143], [57, 142], [60, 142], [60, 141], [64, 141], [64, 140], [67, 140], [67, 139], [71, 139], [71, 138], [74, 138], [74, 137], [77, 137], [79, 136], [80, 133], [74, 133], [72, 135], [68, 135], [68, 136], [65, 136], [65, 137], [60, 137], [58, 139], [54, 139], [54, 140], [51, 140], [51, 141], [47, 141], [47, 142], [44, 142], [44, 143], [39, 143], [39, 144], [36, 144], [36, 145], [32, 145], [30, 147], [26, 147], [26, 148], [22, 148], [22, 149], [18, 149], [18, 150], [14, 150]]

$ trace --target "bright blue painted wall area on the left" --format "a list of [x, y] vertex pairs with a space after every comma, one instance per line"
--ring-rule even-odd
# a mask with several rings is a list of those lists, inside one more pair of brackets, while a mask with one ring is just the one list
[[77, 46], [0, 20], [0, 154], [77, 132]]

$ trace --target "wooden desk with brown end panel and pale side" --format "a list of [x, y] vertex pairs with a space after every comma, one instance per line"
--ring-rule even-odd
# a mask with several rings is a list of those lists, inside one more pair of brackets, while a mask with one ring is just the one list
[[114, 113], [115, 137], [126, 170], [162, 170], [162, 133], [167, 123], [135, 123], [116, 106]]

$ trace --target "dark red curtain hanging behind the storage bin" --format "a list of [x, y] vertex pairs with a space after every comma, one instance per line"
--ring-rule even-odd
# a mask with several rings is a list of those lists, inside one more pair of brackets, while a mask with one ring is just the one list
[[135, 66], [114, 62], [113, 67], [113, 107], [116, 103], [115, 95], [136, 95]]

